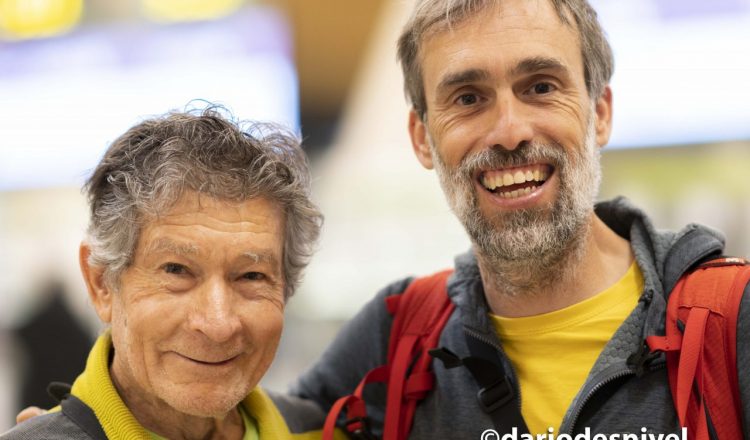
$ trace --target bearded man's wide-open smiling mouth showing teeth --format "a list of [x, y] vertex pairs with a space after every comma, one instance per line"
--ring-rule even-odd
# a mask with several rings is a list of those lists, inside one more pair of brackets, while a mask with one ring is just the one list
[[499, 197], [515, 199], [536, 191], [553, 172], [552, 166], [543, 164], [489, 170], [479, 175], [479, 183]]

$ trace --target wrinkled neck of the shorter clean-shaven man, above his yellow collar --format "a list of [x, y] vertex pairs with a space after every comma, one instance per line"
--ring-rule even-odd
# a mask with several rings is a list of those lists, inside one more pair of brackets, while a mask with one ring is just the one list
[[[116, 356], [116, 354], [115, 354]], [[148, 396], [141, 390], [122, 386], [123, 374], [118, 374], [117, 363], [110, 367], [112, 382], [125, 406], [145, 429], [169, 439], [241, 439], [245, 432], [242, 415], [235, 407], [219, 416], [195, 416], [179, 412], [166, 402]]]

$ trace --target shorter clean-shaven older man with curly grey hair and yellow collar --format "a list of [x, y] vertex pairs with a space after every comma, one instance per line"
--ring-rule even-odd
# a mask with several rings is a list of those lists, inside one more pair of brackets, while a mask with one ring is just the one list
[[315, 438], [257, 387], [320, 230], [309, 185], [293, 135], [215, 109], [118, 138], [86, 184], [80, 246], [109, 328], [61, 411], [2, 438]]

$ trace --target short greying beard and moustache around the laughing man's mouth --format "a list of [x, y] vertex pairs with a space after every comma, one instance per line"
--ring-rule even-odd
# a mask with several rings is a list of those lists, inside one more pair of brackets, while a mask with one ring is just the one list
[[[448, 203], [474, 244], [485, 283], [508, 296], [533, 295], [570, 279], [584, 255], [590, 218], [601, 182], [600, 151], [593, 120], [583, 148], [527, 143], [507, 151], [493, 148], [465, 157], [448, 169], [430, 142], [435, 170]], [[548, 206], [495, 213], [479, 209], [474, 176], [479, 169], [540, 161], [555, 167], [557, 199]]]

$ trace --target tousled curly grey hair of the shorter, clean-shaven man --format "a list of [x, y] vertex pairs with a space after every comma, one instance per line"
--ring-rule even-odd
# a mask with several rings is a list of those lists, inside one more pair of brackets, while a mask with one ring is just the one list
[[242, 202], [265, 197], [285, 212], [283, 276], [289, 297], [312, 256], [323, 217], [310, 199], [310, 171], [298, 138], [270, 124], [234, 122], [228, 112], [169, 113], [117, 138], [86, 191], [90, 263], [113, 289], [131, 263], [144, 224], [186, 190]]

